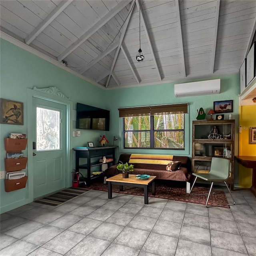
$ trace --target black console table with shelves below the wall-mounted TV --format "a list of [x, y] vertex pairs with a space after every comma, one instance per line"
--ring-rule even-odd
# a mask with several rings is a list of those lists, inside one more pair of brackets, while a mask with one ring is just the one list
[[[91, 184], [91, 167], [98, 166], [102, 164], [115, 164], [115, 149], [117, 146], [111, 147], [98, 147], [98, 148], [73, 148], [76, 152], [76, 172], [79, 172], [79, 169], [86, 169], [87, 170], [87, 178], [86, 178], [86, 185], [90, 186]], [[113, 162], [106, 162], [102, 163], [99, 160], [92, 161], [92, 158], [99, 158], [103, 156], [111, 156], [113, 158]], [[79, 158], [87, 158], [87, 164], [79, 164]]]

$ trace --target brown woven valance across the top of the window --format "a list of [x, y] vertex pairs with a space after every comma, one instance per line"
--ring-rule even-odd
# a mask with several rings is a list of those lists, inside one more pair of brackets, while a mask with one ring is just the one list
[[119, 117], [127, 116], [148, 116], [154, 114], [186, 114], [188, 113], [188, 103], [169, 104], [159, 106], [143, 106], [133, 108], [118, 108]]

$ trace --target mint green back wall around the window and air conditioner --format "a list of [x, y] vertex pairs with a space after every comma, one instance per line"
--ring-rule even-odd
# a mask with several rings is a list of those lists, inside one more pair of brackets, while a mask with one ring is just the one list
[[[210, 109], [213, 109], [213, 102], [217, 100], [233, 100], [233, 118], [236, 120], [236, 147], [235, 153], [238, 152], [238, 94], [240, 93], [240, 80], [239, 75], [228, 75], [220, 76], [214, 78], [204, 78], [198, 80], [191, 80], [186, 82], [195, 82], [202, 80], [211, 80], [220, 78], [221, 90], [220, 94], [205, 95], [205, 96], [193, 96], [176, 98], [174, 96], [174, 84], [158, 84], [151, 86], [139, 86], [132, 88], [117, 88], [114, 90], [108, 90], [106, 92], [108, 104], [108, 109], [111, 110], [111, 129], [109, 138], [113, 136], [118, 136], [119, 140], [116, 145], [119, 144], [119, 153], [150, 153], [150, 154], [160, 154], [164, 152], [165, 154], [178, 154], [185, 156], [192, 156], [192, 120], [196, 120], [197, 110], [200, 107], [204, 109], [206, 114]], [[180, 82], [182, 83], [182, 82]], [[186, 114], [185, 119], [185, 150], [175, 151], [175, 150], [134, 150], [134, 149], [124, 149], [122, 146], [122, 118], [118, 118], [118, 108], [124, 107], [134, 107], [134, 106], [148, 106], [148, 105], [161, 105], [161, 104], [174, 104], [174, 103], [188, 103], [189, 114]], [[215, 119], [215, 115], [214, 119]], [[206, 119], [210, 116], [206, 115]], [[225, 119], [228, 119], [228, 114], [225, 114]]]

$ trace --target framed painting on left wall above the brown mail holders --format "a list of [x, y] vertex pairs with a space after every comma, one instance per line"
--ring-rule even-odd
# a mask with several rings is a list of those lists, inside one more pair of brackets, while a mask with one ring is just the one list
[[0, 99], [1, 124], [23, 125], [23, 103], [15, 100]]

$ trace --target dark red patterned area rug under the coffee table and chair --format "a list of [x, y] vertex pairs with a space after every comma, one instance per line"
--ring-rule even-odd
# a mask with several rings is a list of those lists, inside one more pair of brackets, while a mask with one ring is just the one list
[[[108, 185], [100, 182], [93, 183], [90, 189], [100, 190], [100, 191], [108, 191]], [[168, 184], [162, 184], [156, 182], [156, 195], [152, 195], [151, 186], [149, 187], [148, 196], [155, 198], [164, 198], [182, 202], [190, 202], [195, 204], [206, 204], [207, 196], [193, 196], [193, 194], [208, 194], [208, 187], [194, 187], [191, 195], [186, 193], [186, 189], [184, 187], [173, 187]], [[124, 186], [124, 191], [119, 190], [119, 186], [112, 185], [113, 193], [122, 193], [122, 194], [131, 194], [136, 196], [144, 196], [144, 188], [137, 187], [128, 187]], [[210, 195], [208, 205], [216, 206], [228, 204], [227, 198], [223, 191], [212, 190], [214, 194]], [[229, 208], [229, 206], [224, 206], [225, 208]]]

